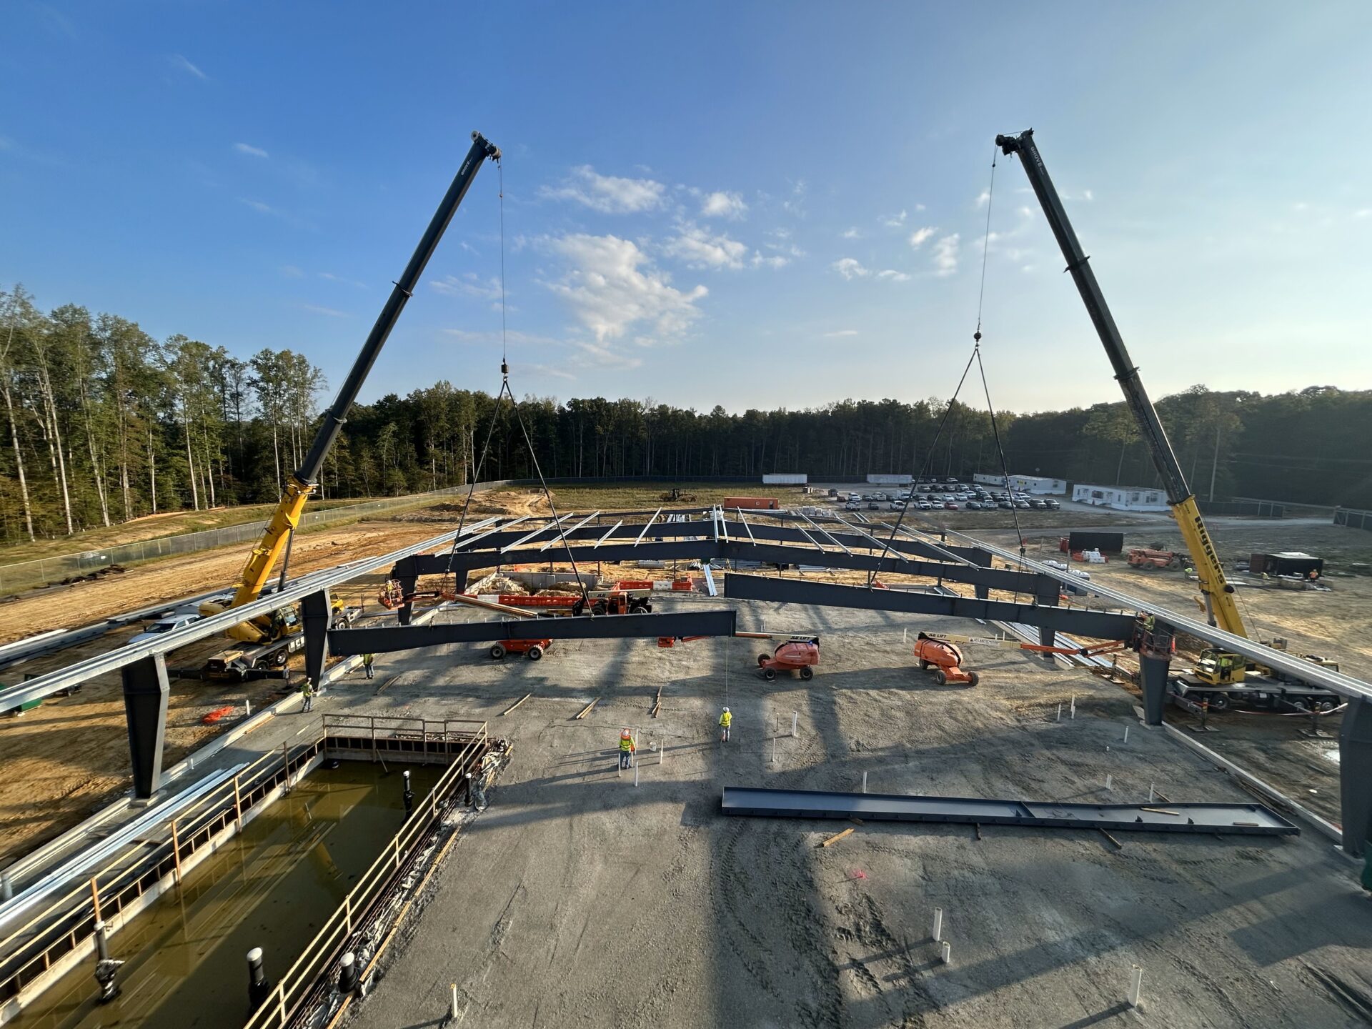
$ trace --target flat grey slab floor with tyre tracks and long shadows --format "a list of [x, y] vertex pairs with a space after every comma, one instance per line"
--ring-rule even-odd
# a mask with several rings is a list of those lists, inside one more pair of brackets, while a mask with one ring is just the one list
[[[491, 807], [350, 1025], [436, 1026], [453, 982], [456, 1024], [471, 1026], [1372, 1019], [1372, 903], [1357, 870], [1309, 831], [1120, 833], [1117, 851], [1091, 831], [986, 827], [978, 840], [970, 826], [867, 823], [822, 849], [845, 823], [720, 816], [724, 785], [860, 789], [864, 771], [873, 792], [1142, 801], [1157, 783], [1173, 801], [1251, 800], [1084, 672], [982, 649], [971, 659], [981, 686], [936, 687], [901, 628], [912, 639], [966, 623], [740, 611], [742, 628], [819, 631], [815, 679], [764, 683], [757, 641], [622, 641], [558, 643], [538, 663], [416, 652], [379, 664], [379, 682], [398, 676], [380, 696], [359, 681], [332, 691], [336, 709], [486, 716], [514, 744]], [[727, 745], [715, 727], [723, 704], [734, 712]], [[639, 733], [637, 788], [616, 772], [623, 726]], [[930, 940], [934, 907], [951, 965]], [[1137, 1010], [1125, 1004], [1133, 965], [1144, 973]]]

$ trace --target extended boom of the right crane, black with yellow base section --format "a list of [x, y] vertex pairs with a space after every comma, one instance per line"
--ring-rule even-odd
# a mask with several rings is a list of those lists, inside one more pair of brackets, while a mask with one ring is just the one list
[[1091, 316], [1096, 335], [1100, 336], [1106, 355], [1114, 366], [1115, 381], [1120, 383], [1124, 399], [1129, 405], [1135, 421], [1139, 423], [1139, 432], [1148, 446], [1148, 456], [1152, 458], [1158, 475], [1162, 476], [1168, 506], [1172, 508], [1172, 516], [1177, 520], [1181, 536], [1187, 542], [1187, 550], [1191, 552], [1191, 560], [1195, 563], [1210, 624], [1218, 624], [1227, 632], [1246, 637], [1243, 619], [1239, 617], [1239, 606], [1233, 598], [1233, 586], [1224, 578], [1224, 565], [1210, 541], [1210, 534], [1206, 531], [1200, 508], [1196, 505], [1191, 487], [1187, 486], [1187, 477], [1181, 472], [1177, 456], [1172, 451], [1172, 443], [1162, 428], [1158, 412], [1154, 410], [1152, 401], [1148, 399], [1148, 394], [1143, 388], [1139, 369], [1129, 359], [1124, 338], [1120, 335], [1114, 316], [1110, 314], [1110, 307], [1106, 305], [1104, 294], [1100, 292], [1100, 284], [1096, 283], [1096, 276], [1088, 263], [1089, 258], [1083, 252], [1077, 233], [1073, 230], [1072, 222], [1067, 221], [1067, 211], [1063, 209], [1058, 191], [1048, 177], [1048, 169], [1044, 167], [1039, 148], [1034, 145], [1033, 129], [1025, 129], [1018, 136], [996, 136], [996, 145], [1004, 154], [1021, 156], [1025, 174], [1029, 176], [1029, 185], [1033, 187], [1044, 217], [1048, 220], [1048, 226], [1062, 248], [1062, 255], [1067, 259], [1067, 272], [1072, 273], [1072, 280], [1077, 284], [1081, 300], [1087, 305], [1087, 314]]

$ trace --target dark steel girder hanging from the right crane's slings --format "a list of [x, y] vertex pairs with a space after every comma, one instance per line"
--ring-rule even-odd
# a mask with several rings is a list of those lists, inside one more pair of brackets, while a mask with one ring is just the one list
[[[866, 608], [868, 611], [900, 611], [911, 615], [941, 615], [944, 617], [982, 619], [985, 622], [1018, 622], [1025, 626], [1047, 626], [1070, 635], [1093, 639], [1131, 639], [1133, 617], [1110, 615], [1103, 611], [1078, 611], [1043, 604], [1011, 604], [1010, 601], [948, 597], [937, 593], [908, 593], [906, 590], [868, 590], [862, 586], [804, 582], [801, 579], [772, 579], [761, 575], [733, 573], [724, 578], [724, 595], [731, 600], [761, 600], [778, 604], [808, 604], [816, 608]], [[1056, 598], [1056, 593], [1054, 593]]]

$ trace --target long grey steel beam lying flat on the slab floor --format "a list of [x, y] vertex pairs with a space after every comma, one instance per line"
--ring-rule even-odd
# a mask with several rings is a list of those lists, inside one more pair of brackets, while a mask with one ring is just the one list
[[959, 822], [1025, 829], [1298, 836], [1262, 804], [1054, 804], [1051, 801], [911, 797], [724, 786], [720, 811], [764, 818], [860, 818], [874, 822]]

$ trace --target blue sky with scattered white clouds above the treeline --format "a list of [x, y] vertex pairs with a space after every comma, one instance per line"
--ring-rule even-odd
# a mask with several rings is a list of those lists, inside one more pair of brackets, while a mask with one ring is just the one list
[[[1372, 387], [1372, 5], [32, 3], [0, 284], [342, 381], [480, 129], [516, 392], [948, 395], [1028, 126], [1154, 397]], [[1022, 170], [997, 406], [1118, 399]], [[499, 383], [477, 177], [364, 399]]]

